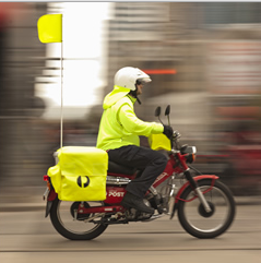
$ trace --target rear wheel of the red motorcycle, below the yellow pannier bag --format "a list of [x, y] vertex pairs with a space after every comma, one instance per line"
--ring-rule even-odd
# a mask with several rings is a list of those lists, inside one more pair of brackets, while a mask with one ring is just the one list
[[[66, 202], [56, 199], [50, 211], [50, 219], [56, 230], [63, 237], [72, 240], [90, 240], [98, 237], [105, 231], [108, 225], [94, 224], [100, 219], [103, 214], [79, 215], [74, 218], [74, 211], [79, 202]], [[103, 205], [103, 202], [84, 202], [84, 207]]]

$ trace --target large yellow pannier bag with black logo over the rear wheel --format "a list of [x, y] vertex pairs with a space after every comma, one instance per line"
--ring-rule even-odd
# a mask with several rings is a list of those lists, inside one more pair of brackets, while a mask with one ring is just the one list
[[47, 175], [62, 201], [103, 201], [106, 199], [107, 152], [91, 146], [66, 146], [55, 156], [57, 165]]

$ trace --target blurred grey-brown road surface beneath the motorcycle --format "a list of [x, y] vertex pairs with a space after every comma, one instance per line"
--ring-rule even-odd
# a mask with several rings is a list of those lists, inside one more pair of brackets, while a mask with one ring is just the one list
[[44, 191], [41, 187], [0, 189], [0, 211], [4, 211], [0, 212], [1, 263], [110, 263], [117, 259], [127, 263], [260, 263], [260, 196], [236, 196], [235, 222], [224, 235], [211, 240], [191, 237], [177, 217], [169, 220], [164, 216], [150, 224], [109, 226], [94, 240], [71, 241], [44, 217]]

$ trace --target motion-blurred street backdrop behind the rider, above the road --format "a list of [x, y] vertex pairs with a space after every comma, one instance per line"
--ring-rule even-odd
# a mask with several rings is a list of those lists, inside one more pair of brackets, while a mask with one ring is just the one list
[[194, 167], [235, 195], [260, 194], [260, 2], [0, 2], [0, 190], [43, 187], [55, 165], [61, 44], [41, 44], [37, 21], [62, 13], [63, 145], [95, 146], [103, 98], [132, 65], [153, 80], [138, 117], [156, 121], [156, 106], [170, 105]]

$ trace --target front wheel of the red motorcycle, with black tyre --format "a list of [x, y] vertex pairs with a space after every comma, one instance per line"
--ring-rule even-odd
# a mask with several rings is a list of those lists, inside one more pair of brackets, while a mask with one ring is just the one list
[[[200, 190], [210, 189], [212, 180], [198, 181]], [[180, 199], [191, 200], [195, 196], [189, 187]], [[178, 218], [187, 232], [197, 238], [215, 238], [225, 232], [235, 217], [236, 205], [228, 188], [220, 181], [215, 181], [213, 189], [204, 194], [211, 212], [205, 212], [199, 198], [190, 202], [180, 202]]]

